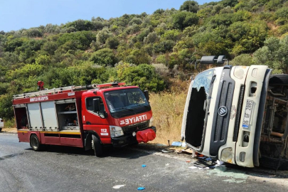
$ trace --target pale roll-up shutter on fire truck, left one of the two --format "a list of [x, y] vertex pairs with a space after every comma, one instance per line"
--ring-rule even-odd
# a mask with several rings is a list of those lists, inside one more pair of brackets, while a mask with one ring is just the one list
[[30, 119], [30, 126], [32, 128], [40, 128], [42, 127], [42, 118], [40, 105], [38, 102], [27, 104], [28, 114]]

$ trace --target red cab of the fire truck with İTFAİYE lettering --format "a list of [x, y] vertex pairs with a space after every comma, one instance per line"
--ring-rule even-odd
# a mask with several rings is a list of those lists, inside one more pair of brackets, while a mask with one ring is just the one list
[[96, 133], [102, 144], [137, 144], [137, 132], [156, 132], [149, 102], [136, 86], [89, 90], [82, 94], [81, 108], [84, 134]]

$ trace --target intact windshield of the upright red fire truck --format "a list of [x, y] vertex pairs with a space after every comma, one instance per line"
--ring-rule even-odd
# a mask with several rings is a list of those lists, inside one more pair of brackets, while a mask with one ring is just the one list
[[142, 90], [138, 88], [105, 92], [105, 100], [114, 118], [151, 110]]

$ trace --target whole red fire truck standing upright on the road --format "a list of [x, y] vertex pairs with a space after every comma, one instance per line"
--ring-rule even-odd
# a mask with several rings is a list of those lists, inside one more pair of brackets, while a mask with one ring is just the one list
[[125, 146], [155, 138], [147, 91], [124, 82], [70, 86], [14, 95], [19, 142], [35, 151], [43, 145], [94, 149]]

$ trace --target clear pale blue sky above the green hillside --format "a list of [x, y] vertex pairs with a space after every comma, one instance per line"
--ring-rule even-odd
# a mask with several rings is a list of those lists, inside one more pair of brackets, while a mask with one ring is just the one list
[[[105, 19], [124, 14], [153, 14], [156, 9], [179, 9], [186, 0], [0, 0], [0, 31], [46, 26], [92, 16]], [[198, 4], [209, 0], [196, 0]], [[219, 0], [214, 0], [219, 1]]]

